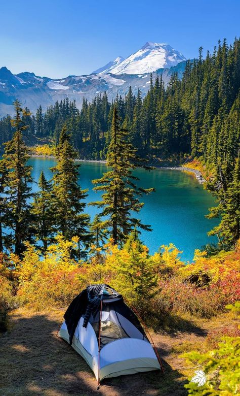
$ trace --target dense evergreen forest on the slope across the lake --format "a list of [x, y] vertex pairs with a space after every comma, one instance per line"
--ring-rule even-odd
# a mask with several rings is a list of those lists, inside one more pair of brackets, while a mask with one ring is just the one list
[[[165, 89], [161, 76], [155, 81], [150, 78], [143, 100], [141, 91], [135, 97], [130, 86], [128, 94], [117, 95], [114, 103], [141, 154], [184, 152], [201, 156], [207, 163], [215, 163], [217, 158], [229, 162], [238, 149], [239, 87], [240, 41], [235, 39], [228, 46], [224, 40], [204, 60], [200, 48], [198, 59], [187, 61], [181, 81], [174, 73]], [[46, 113], [39, 106], [35, 116], [24, 120], [29, 125], [28, 137], [50, 137], [58, 142], [66, 124], [82, 157], [104, 159], [114, 103], [104, 93], [91, 103], [84, 100], [81, 111], [67, 97]], [[10, 117], [1, 120], [0, 133], [1, 143], [11, 138]]]

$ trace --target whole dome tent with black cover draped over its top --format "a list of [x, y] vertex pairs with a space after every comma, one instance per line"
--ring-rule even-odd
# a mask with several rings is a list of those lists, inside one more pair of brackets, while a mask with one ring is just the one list
[[162, 368], [137, 316], [110, 286], [88, 286], [64, 319], [60, 337], [84, 357], [98, 384], [103, 378]]

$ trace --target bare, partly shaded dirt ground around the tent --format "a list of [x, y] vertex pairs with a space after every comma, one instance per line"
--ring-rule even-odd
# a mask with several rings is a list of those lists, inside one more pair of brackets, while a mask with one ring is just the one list
[[[109, 378], [100, 390], [91, 369], [66, 342], [57, 337], [64, 311], [11, 313], [11, 329], [0, 336], [1, 396], [136, 396], [186, 395], [189, 371], [178, 356], [203, 343], [207, 329], [189, 323], [176, 334], [151, 333], [165, 373], [160, 371]], [[209, 325], [209, 323], [208, 323]], [[205, 327], [205, 328], [204, 328]]]

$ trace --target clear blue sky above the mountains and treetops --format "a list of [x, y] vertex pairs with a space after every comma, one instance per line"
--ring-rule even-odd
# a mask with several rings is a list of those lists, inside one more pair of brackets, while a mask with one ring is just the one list
[[239, 0], [9, 0], [0, 14], [0, 67], [51, 78], [88, 74], [147, 41], [193, 58], [240, 35]]

